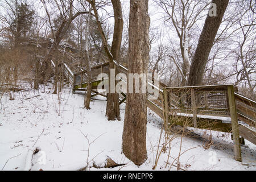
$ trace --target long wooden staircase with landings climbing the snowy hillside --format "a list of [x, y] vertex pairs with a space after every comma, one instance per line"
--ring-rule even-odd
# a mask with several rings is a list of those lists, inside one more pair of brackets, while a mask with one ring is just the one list
[[[52, 67], [55, 67], [53, 61]], [[88, 78], [85, 70], [73, 73], [65, 63], [63, 63], [63, 68], [67, 81], [73, 85], [73, 93], [76, 90], [86, 90]], [[91, 69], [93, 80], [92, 92], [94, 93], [92, 97], [97, 95], [106, 97], [104, 93], [97, 91], [98, 85], [102, 82], [98, 75], [100, 73], [108, 74], [109, 63], [97, 65]], [[123, 65], [119, 64], [118, 70], [127, 75], [127, 68]], [[120, 81], [125, 82], [122, 79]], [[241, 148], [238, 142], [239, 136], [256, 144], [256, 102], [234, 92], [233, 85], [168, 88], [162, 82], [159, 82], [159, 86], [155, 86], [150, 82], [147, 84], [148, 86], [154, 86], [159, 92], [157, 99], [147, 100], [147, 106], [158, 114], [160, 118], [164, 119], [166, 130], [175, 123], [175, 117], [191, 118], [190, 126], [202, 129], [209, 129], [202, 127], [201, 124], [204, 122], [214, 123], [214, 125], [217, 123], [216, 125], [225, 127], [224, 131], [233, 133], [235, 158], [240, 161]], [[149, 98], [150, 94], [147, 94]], [[122, 104], [126, 100], [126, 94], [122, 93], [120, 96], [122, 98], [119, 104]], [[181, 123], [181, 125], [183, 124]], [[213, 124], [210, 125], [214, 126]], [[222, 131], [220, 127], [212, 127], [210, 129]]]

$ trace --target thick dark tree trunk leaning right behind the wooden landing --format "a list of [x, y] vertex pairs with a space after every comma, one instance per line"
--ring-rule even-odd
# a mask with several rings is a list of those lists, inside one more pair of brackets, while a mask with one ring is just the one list
[[220, 27], [221, 20], [228, 6], [229, 0], [213, 0], [212, 3], [217, 5], [217, 16], [205, 19], [203, 31], [201, 32], [199, 43], [197, 44], [196, 52], [192, 60], [188, 85], [201, 85], [205, 71], [205, 65], [209, 57], [210, 49], [212, 49], [214, 38]]

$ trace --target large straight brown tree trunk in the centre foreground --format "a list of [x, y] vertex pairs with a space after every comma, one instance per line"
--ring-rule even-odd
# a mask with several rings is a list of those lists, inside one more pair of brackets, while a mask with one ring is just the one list
[[[130, 1], [129, 18], [129, 66], [128, 73], [145, 73], [147, 75], [149, 60], [150, 18], [148, 0]], [[133, 80], [129, 80], [129, 82]], [[134, 84], [134, 83], [133, 83]], [[127, 93], [125, 123], [123, 126], [123, 153], [138, 166], [147, 159], [146, 149], [147, 94]]]

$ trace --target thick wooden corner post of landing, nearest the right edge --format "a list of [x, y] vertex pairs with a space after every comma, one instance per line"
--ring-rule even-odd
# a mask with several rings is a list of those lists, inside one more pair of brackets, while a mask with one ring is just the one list
[[237, 108], [236, 108], [236, 100], [234, 97], [234, 86], [228, 86], [228, 98], [229, 98], [229, 110], [230, 110], [230, 118], [232, 125], [232, 133], [233, 133], [233, 142], [234, 142], [234, 158], [235, 160], [242, 162], [241, 156], [241, 146], [239, 140], [239, 126], [237, 119]]

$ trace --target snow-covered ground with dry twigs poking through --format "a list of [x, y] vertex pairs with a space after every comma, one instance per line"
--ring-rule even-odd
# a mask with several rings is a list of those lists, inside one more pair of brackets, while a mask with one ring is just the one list
[[[95, 97], [90, 104], [92, 109], [86, 110], [82, 107], [84, 93], [72, 94], [71, 88], [65, 88], [58, 100], [58, 96], [51, 92], [51, 86], [47, 86], [45, 90], [41, 87], [39, 91], [18, 92], [14, 101], [3, 96], [0, 102], [0, 169], [78, 170], [89, 163], [89, 170], [152, 170], [162, 126], [158, 115], [148, 110], [148, 159], [137, 167], [121, 150], [125, 104], [121, 105], [121, 121], [108, 121], [104, 97]], [[204, 130], [194, 132], [203, 135]], [[207, 131], [207, 137], [209, 133]], [[163, 137], [160, 148], [164, 143]], [[170, 157], [167, 147], [166, 152], [160, 155], [156, 170], [176, 170], [176, 166], [185, 170], [256, 169], [254, 144], [245, 141], [246, 147], [242, 146], [243, 162], [240, 163], [233, 159], [230, 134], [212, 131], [212, 137], [213, 145], [208, 150], [202, 146], [203, 139], [183, 137], [180, 147], [181, 137], [176, 137], [171, 142]], [[36, 147], [41, 151], [32, 155]], [[107, 158], [126, 165], [92, 167], [93, 163], [104, 166]]]

